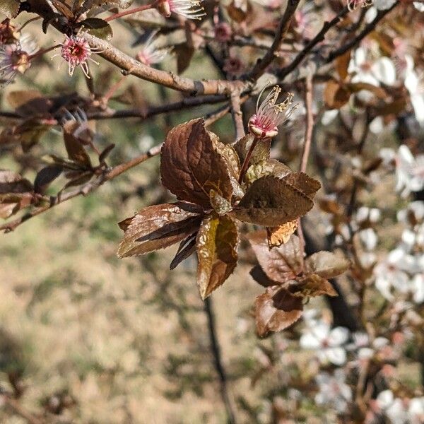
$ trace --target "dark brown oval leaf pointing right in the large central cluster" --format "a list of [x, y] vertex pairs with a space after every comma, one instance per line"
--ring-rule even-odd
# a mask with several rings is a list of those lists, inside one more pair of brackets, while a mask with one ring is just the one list
[[252, 183], [233, 212], [242, 221], [276, 227], [305, 215], [312, 206], [312, 200], [299, 189], [267, 175]]

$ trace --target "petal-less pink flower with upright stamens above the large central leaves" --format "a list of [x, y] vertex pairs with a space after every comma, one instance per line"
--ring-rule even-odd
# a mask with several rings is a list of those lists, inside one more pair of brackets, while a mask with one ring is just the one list
[[290, 107], [293, 102], [293, 94], [288, 93], [287, 98], [276, 105], [281, 88], [275, 86], [265, 100], [261, 102], [261, 91], [257, 101], [257, 112], [249, 119], [249, 131], [259, 139], [268, 139], [278, 134], [278, 126], [283, 124], [293, 112], [295, 107]]

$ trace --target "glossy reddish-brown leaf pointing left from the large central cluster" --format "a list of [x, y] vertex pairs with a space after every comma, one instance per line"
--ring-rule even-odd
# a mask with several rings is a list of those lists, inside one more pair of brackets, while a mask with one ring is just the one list
[[196, 205], [177, 202], [148, 206], [119, 226], [125, 231], [118, 257], [131, 257], [164, 249], [192, 235], [201, 223]]

